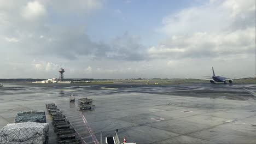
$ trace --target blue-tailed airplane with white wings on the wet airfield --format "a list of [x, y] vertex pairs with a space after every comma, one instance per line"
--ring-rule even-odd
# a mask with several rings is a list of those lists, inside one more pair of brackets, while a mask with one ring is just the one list
[[212, 67], [212, 74], [213, 76], [207, 76], [207, 77], [212, 77], [212, 79], [199, 79], [199, 80], [210, 80], [211, 83], [215, 83], [215, 82], [223, 82], [224, 84], [226, 84], [226, 81], [228, 81], [229, 83], [232, 83], [233, 80], [239, 80], [239, 79], [245, 79], [247, 77], [241, 77], [241, 78], [226, 78], [223, 75], [217, 76], [214, 73], [214, 69]]

